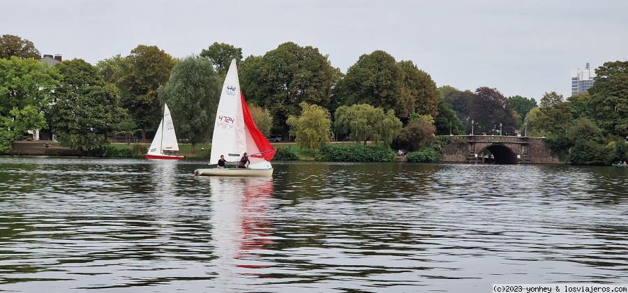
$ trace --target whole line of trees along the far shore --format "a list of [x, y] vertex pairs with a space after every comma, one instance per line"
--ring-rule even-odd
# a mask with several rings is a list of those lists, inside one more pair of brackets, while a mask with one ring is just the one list
[[[110, 137], [135, 129], [147, 140], [163, 103], [180, 138], [193, 147], [207, 142], [232, 59], [239, 61], [241, 87], [260, 130], [292, 135], [311, 149], [334, 135], [417, 150], [430, 146], [435, 135], [523, 133], [546, 136], [557, 153], [565, 156], [568, 147], [569, 156], [576, 146], [570, 131], [582, 133], [583, 123], [588, 133], [597, 130], [597, 144], [628, 135], [627, 65], [620, 61], [598, 68], [588, 94], [563, 100], [546, 93], [537, 105], [490, 87], [437, 87], [412, 61], [380, 50], [361, 55], [347, 73], [317, 48], [292, 42], [246, 58], [241, 48], [224, 43], [182, 59], [138, 45], [95, 66], [73, 59], [47, 68], [38, 57], [28, 40], [0, 37], [0, 151], [29, 129], [50, 130], [63, 145], [84, 151], [103, 149]], [[573, 141], [563, 143], [566, 138]]]

